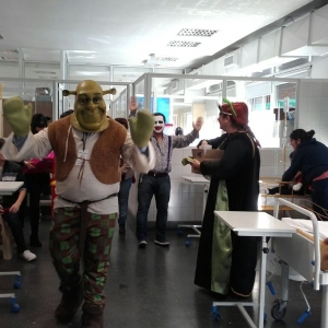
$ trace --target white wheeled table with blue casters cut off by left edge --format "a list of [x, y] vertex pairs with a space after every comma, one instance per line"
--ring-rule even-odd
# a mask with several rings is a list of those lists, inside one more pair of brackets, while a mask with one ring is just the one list
[[[0, 181], [0, 195], [12, 195], [15, 192], [23, 183], [20, 181]], [[2, 276], [16, 276], [13, 286], [15, 289], [21, 288], [21, 272], [20, 271], [12, 271], [12, 272], [0, 272], [0, 277]], [[8, 293], [8, 294], [0, 294], [0, 298], [11, 298], [11, 312], [17, 313], [20, 311], [20, 305], [16, 303], [15, 294]]]

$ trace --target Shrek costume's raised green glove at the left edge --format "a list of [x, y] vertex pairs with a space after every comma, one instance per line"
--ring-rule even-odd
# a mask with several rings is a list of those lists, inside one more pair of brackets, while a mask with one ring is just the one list
[[27, 136], [32, 121], [32, 104], [24, 105], [21, 97], [11, 97], [3, 102], [3, 116], [17, 137]]

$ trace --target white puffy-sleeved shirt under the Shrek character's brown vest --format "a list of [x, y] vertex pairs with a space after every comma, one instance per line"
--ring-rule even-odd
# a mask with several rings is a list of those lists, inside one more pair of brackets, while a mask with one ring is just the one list
[[[84, 148], [85, 160], [90, 159], [93, 147], [99, 137], [99, 132], [91, 133], [83, 144], [83, 132], [72, 128], [73, 138], [77, 147], [77, 154]], [[12, 161], [23, 161], [27, 157], [45, 157], [52, 149], [48, 139], [48, 129], [44, 129], [37, 134], [27, 136], [23, 147], [17, 148], [12, 143], [13, 133], [7, 138], [7, 142], [2, 148], [2, 153], [7, 159]], [[55, 154], [56, 156], [56, 154]], [[147, 173], [155, 165], [155, 155], [152, 144], [149, 143], [149, 156], [147, 157], [134, 145], [130, 133], [127, 134], [126, 141], [121, 150], [124, 161], [129, 163], [131, 167], [139, 173]], [[104, 159], [110, 165], [110, 159]], [[77, 161], [79, 162], [79, 161]], [[84, 171], [82, 179], [79, 178], [81, 163], [75, 163], [69, 176], [63, 181], [56, 183], [56, 194], [59, 196], [55, 200], [55, 208], [72, 207], [78, 202], [87, 200], [94, 201], [89, 204], [87, 211], [98, 214], [116, 213], [118, 212], [117, 197], [107, 198], [109, 195], [119, 191], [119, 183], [106, 185], [101, 183], [93, 174], [89, 161], [84, 162]], [[70, 201], [68, 201], [70, 200]], [[99, 201], [98, 201], [99, 200]]]

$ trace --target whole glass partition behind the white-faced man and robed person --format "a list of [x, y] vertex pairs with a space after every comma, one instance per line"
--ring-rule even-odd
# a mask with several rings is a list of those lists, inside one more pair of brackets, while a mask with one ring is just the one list
[[218, 103], [221, 104], [223, 97], [245, 102], [249, 109], [249, 127], [262, 148], [281, 148], [289, 147], [288, 136], [294, 129], [297, 82], [296, 79], [151, 73], [142, 75], [134, 84], [134, 94], [141, 99], [141, 108], [144, 98], [151, 104], [152, 113], [165, 115], [168, 134], [177, 127], [189, 133], [197, 117], [204, 117], [200, 139], [222, 134]]

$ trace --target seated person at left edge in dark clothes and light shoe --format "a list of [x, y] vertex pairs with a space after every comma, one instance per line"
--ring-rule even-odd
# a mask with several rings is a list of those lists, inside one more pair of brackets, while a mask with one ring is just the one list
[[[19, 163], [7, 161], [2, 155], [4, 139], [0, 138], [0, 181], [24, 181], [22, 167]], [[0, 197], [0, 215], [9, 225], [17, 246], [17, 256], [30, 262], [36, 259], [36, 255], [30, 251], [25, 244], [23, 225], [19, 215], [20, 207], [26, 197], [26, 188], [22, 187], [13, 195]]]

